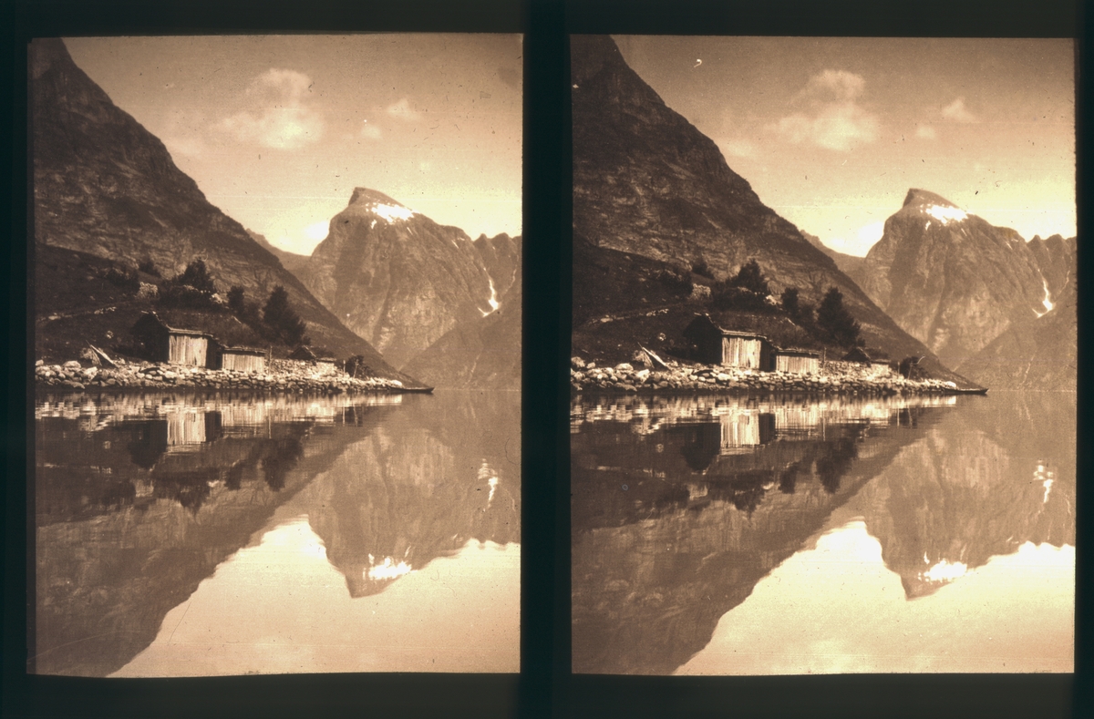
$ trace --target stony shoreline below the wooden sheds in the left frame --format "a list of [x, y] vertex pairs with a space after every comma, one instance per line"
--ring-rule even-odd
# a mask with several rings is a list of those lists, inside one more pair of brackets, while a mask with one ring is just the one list
[[309, 373], [304, 369], [269, 369], [261, 374], [234, 369], [206, 369], [154, 362], [118, 361], [116, 367], [98, 367], [75, 360], [63, 365], [47, 365], [42, 360], [35, 364], [34, 378], [39, 386], [85, 389], [176, 389], [196, 387], [205, 389], [255, 389], [286, 392], [399, 392], [406, 388], [397, 379], [370, 377], [357, 379], [347, 376]]

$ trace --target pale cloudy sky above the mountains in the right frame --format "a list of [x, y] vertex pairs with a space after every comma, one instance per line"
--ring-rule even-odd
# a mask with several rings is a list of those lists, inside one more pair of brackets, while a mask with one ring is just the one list
[[1070, 39], [616, 36], [760, 200], [864, 256], [910, 188], [1075, 233]]

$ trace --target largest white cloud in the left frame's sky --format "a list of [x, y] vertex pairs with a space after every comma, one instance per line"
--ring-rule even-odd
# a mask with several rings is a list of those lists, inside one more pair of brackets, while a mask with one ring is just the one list
[[267, 70], [245, 93], [260, 109], [236, 113], [218, 127], [240, 142], [264, 148], [293, 150], [317, 142], [325, 128], [323, 117], [307, 107], [311, 86], [311, 79], [302, 72]]

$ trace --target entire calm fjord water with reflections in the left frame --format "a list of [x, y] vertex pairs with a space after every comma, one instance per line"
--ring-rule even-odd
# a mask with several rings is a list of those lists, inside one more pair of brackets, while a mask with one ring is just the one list
[[31, 670], [513, 672], [520, 394], [43, 394]]

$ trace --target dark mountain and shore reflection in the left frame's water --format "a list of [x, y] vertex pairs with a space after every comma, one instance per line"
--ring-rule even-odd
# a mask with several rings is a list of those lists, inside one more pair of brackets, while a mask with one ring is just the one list
[[31, 670], [116, 671], [287, 503], [351, 597], [519, 542], [519, 427], [516, 393], [44, 396]]

